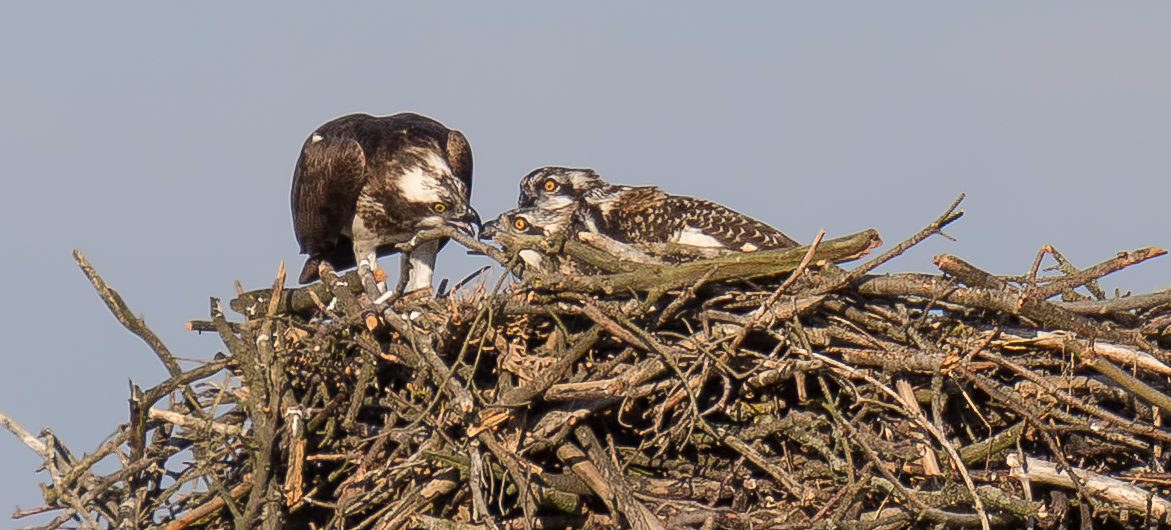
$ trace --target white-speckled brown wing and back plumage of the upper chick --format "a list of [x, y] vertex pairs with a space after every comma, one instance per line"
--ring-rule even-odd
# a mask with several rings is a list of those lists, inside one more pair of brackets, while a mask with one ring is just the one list
[[608, 186], [584, 199], [597, 230], [628, 243], [673, 242], [739, 252], [797, 246], [776, 228], [726, 206], [671, 195], [656, 186]]

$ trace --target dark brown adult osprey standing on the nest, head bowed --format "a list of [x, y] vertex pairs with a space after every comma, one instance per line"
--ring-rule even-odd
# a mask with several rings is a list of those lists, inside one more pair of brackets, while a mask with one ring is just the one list
[[[293, 172], [293, 229], [308, 254], [301, 283], [322, 260], [337, 269], [393, 254], [420, 230], [445, 223], [472, 233], [472, 149], [464, 135], [411, 112], [354, 113], [327, 122], [301, 146]], [[408, 290], [431, 285], [430, 241], [408, 256]]]

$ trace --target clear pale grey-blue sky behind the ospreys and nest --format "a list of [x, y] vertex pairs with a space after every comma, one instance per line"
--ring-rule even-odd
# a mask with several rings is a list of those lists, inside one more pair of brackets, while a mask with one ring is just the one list
[[[890, 246], [968, 194], [958, 242], [888, 271], [1171, 247], [1171, 4], [219, 7], [0, 7], [0, 411], [77, 453], [126, 420], [128, 380], [166, 372], [70, 252], [176, 355], [211, 357], [220, 340], [184, 323], [233, 280], [295, 276], [297, 150], [355, 111], [463, 130], [486, 220], [556, 164], [801, 241], [875, 227]], [[484, 263], [450, 246], [438, 276]], [[1171, 257], [1107, 284], [1166, 288]], [[0, 432], [0, 516], [39, 505], [37, 464]]]

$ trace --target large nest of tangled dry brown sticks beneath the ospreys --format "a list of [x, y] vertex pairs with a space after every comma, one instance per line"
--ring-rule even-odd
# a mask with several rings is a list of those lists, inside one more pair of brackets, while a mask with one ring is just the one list
[[[1095, 283], [1164, 250], [1076, 269], [1046, 247], [1025, 276], [950, 255], [941, 274], [870, 274], [941, 234], [957, 204], [850, 270], [835, 262], [876, 232], [679, 264], [537, 242], [602, 271], [383, 304], [352, 273], [301, 289], [281, 273], [231, 302], [242, 318], [212, 300], [190, 326], [226, 353], [189, 369], [78, 254], [172, 377], [133, 387], [129, 421], [81, 457], [0, 418], [52, 479], [16, 515], [170, 530], [1165, 524], [1171, 292]], [[1057, 273], [1039, 273], [1046, 255]]]

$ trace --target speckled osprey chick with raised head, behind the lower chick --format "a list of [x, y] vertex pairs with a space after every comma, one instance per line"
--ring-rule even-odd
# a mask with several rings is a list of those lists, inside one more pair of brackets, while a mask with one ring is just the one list
[[587, 229], [625, 243], [678, 243], [738, 252], [797, 246], [776, 228], [726, 206], [672, 195], [657, 186], [609, 184], [590, 168], [539, 167], [521, 179], [520, 188], [520, 206], [556, 208], [576, 204]]

